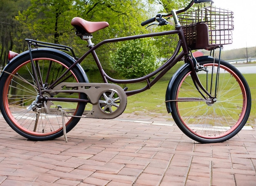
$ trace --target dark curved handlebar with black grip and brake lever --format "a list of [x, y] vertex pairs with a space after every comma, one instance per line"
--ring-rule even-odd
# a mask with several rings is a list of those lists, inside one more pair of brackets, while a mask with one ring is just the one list
[[[192, 7], [192, 5], [194, 3], [201, 3], [201, 2], [213, 2], [212, 0], [191, 0], [191, 2], [188, 4], [188, 6], [186, 6], [184, 9], [179, 9], [179, 10], [173, 10], [172, 13], [168, 13], [168, 14], [165, 14], [165, 15], [162, 15], [162, 14], [157, 14], [157, 16], [155, 18], [150, 18], [144, 22], [141, 23], [141, 26], [145, 26], [145, 25], [148, 25], [149, 23], [151, 22], [155, 22], [157, 20], [157, 22], [159, 22], [159, 26], [162, 26], [162, 25], [167, 25], [167, 21], [162, 18], [162, 17], [171, 17], [173, 16], [173, 14], [175, 14], [175, 19], [177, 20], [177, 16], [176, 16], [176, 13], [182, 13], [184, 11], [187, 11], [190, 7]], [[176, 21], [175, 21], [175, 24]]]

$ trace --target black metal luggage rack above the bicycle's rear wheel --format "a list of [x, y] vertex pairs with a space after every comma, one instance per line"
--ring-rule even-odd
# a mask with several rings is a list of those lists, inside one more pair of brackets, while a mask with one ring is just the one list
[[65, 46], [65, 45], [59, 45], [59, 44], [54, 44], [54, 43], [47, 43], [43, 41], [38, 41], [38, 40], [33, 40], [33, 39], [25, 39], [29, 45], [32, 45], [36, 48], [52, 48], [52, 49], [57, 49], [57, 50], [63, 50], [66, 52], [71, 52], [72, 56], [76, 59], [75, 53], [71, 47]]

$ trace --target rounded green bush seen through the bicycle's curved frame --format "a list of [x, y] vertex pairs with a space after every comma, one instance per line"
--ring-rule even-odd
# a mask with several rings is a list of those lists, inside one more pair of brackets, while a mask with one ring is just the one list
[[111, 55], [110, 62], [125, 78], [142, 77], [157, 68], [157, 49], [152, 40], [130, 40]]

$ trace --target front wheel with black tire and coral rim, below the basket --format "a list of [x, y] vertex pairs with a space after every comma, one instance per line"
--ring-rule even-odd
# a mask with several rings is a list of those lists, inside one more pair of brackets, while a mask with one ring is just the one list
[[[196, 89], [187, 66], [180, 73], [171, 94], [172, 116], [178, 127], [200, 143], [218, 143], [234, 137], [245, 125], [251, 109], [251, 94], [243, 75], [233, 65], [209, 58], [200, 62], [207, 72], [198, 78], [214, 99]], [[201, 91], [202, 92], [202, 91]]]

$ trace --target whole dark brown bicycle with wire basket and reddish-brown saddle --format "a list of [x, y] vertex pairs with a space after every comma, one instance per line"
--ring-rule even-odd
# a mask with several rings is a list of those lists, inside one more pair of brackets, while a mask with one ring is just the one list
[[[197, 8], [192, 9], [192, 5]], [[63, 134], [66, 138], [81, 117], [118, 117], [126, 108], [127, 96], [148, 90], [177, 62], [184, 61], [166, 90], [168, 113], [184, 134], [200, 143], [223, 142], [234, 137], [247, 122], [251, 109], [245, 78], [220, 57], [194, 56], [191, 52], [214, 51], [231, 43], [233, 12], [212, 7], [209, 0], [192, 0], [184, 9], [157, 14], [141, 25], [155, 21], [160, 26], [167, 25], [171, 17], [175, 30], [111, 38], [96, 45], [92, 43], [92, 33], [108, 27], [108, 22], [76, 17], [71, 24], [89, 47], [81, 58], [76, 58], [70, 47], [26, 39], [29, 49], [21, 54], [10, 51], [9, 63], [0, 76], [0, 110], [4, 119], [30, 140], [52, 140]], [[141, 78], [122, 80], [108, 76], [95, 52], [106, 43], [168, 34], [179, 37], [175, 52], [161, 67]], [[104, 83], [89, 83], [80, 65], [88, 54], [92, 54]], [[128, 91], [116, 85], [142, 81], [147, 84], [138, 90]], [[87, 103], [92, 104], [92, 110], [85, 111]]]

